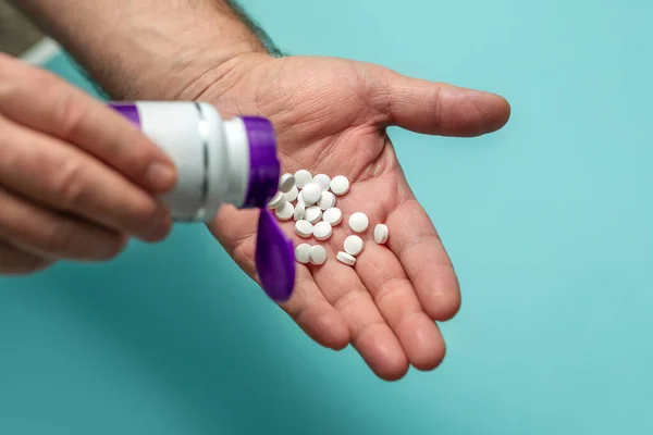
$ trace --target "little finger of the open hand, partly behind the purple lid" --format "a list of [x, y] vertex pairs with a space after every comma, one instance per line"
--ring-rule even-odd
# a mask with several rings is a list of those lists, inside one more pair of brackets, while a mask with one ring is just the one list
[[281, 308], [318, 344], [334, 350], [349, 344], [344, 318], [326, 301], [305, 265], [297, 264], [293, 296]]

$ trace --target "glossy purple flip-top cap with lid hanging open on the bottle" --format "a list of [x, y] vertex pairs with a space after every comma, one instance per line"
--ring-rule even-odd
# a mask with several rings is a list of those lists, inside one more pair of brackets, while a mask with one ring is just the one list
[[268, 296], [283, 302], [295, 287], [295, 252], [293, 241], [283, 233], [268, 202], [279, 189], [281, 162], [276, 156], [276, 138], [270, 121], [243, 117], [249, 142], [249, 183], [243, 208], [259, 208], [256, 240], [256, 269]]

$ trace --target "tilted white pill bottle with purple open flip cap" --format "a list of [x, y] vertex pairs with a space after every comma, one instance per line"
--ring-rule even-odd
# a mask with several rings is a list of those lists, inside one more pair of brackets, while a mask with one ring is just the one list
[[259, 209], [255, 263], [258, 281], [275, 301], [295, 285], [292, 240], [268, 202], [279, 188], [281, 163], [270, 121], [224, 120], [204, 102], [137, 101], [109, 105], [134, 123], [173, 161], [175, 187], [161, 200], [175, 222], [210, 222], [223, 204]]

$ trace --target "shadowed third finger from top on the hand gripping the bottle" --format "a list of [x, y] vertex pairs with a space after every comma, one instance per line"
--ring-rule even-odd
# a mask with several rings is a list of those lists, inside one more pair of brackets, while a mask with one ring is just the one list
[[118, 233], [36, 207], [2, 188], [0, 210], [0, 238], [39, 257], [109, 260], [125, 246]]

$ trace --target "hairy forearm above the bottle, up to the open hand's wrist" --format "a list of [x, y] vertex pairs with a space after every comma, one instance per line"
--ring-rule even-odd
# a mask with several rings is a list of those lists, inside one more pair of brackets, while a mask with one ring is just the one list
[[193, 99], [242, 55], [279, 54], [230, 0], [14, 0], [114, 99]]

